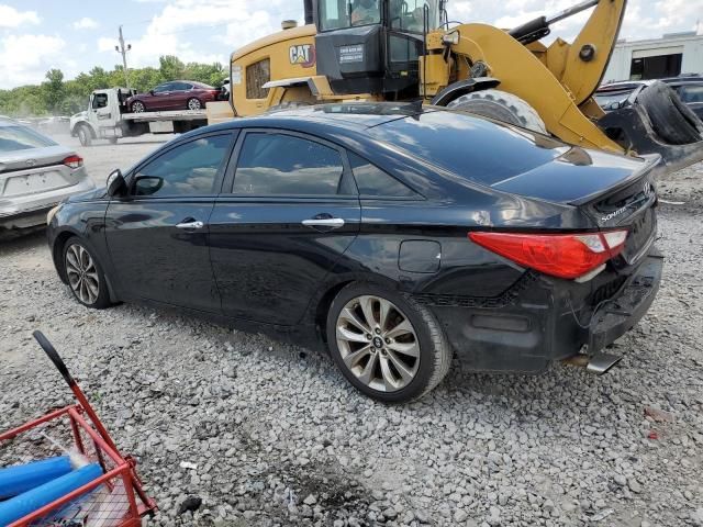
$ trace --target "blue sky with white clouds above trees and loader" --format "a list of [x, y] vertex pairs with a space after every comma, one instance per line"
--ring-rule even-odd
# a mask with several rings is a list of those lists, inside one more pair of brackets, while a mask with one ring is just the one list
[[[578, 0], [449, 0], [449, 20], [514, 27]], [[226, 64], [237, 47], [302, 22], [302, 0], [0, 0], [0, 89], [38, 83], [51, 68], [70, 79], [93, 66], [112, 69], [118, 27], [132, 45], [130, 67], [157, 66], [160, 55]], [[588, 13], [568, 19], [554, 35], [569, 40]], [[621, 38], [703, 33], [703, 0], [631, 0]]]

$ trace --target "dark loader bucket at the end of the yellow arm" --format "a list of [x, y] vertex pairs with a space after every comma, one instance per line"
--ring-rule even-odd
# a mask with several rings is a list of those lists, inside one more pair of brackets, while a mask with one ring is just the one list
[[666, 172], [703, 160], [703, 123], [662, 82], [643, 90], [631, 106], [607, 113], [598, 125], [629, 154], [659, 154]]

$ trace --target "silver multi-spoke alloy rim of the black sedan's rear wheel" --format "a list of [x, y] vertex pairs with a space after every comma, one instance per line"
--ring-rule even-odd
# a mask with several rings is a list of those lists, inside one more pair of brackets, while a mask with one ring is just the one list
[[408, 316], [372, 295], [352, 299], [336, 322], [337, 347], [346, 368], [381, 392], [405, 388], [420, 368], [420, 339]]

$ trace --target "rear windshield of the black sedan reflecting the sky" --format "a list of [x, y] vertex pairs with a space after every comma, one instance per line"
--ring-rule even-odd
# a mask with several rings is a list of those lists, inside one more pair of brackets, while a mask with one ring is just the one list
[[547, 136], [462, 112], [428, 111], [372, 127], [370, 133], [487, 186], [532, 170], [566, 152], [561, 143]]

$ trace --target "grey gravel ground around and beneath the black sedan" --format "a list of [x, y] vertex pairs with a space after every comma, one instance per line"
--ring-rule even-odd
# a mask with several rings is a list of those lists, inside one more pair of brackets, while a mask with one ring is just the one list
[[[113, 159], [154, 147], [81, 154], [103, 181]], [[661, 205], [662, 288], [612, 372], [454, 368], [397, 407], [357, 394], [328, 358], [260, 335], [87, 310], [42, 234], [14, 240], [0, 246], [0, 430], [71, 401], [31, 338], [41, 328], [140, 460], [156, 525], [702, 526], [701, 178], [703, 165], [660, 182], [685, 203]], [[188, 497], [202, 500], [194, 513]]]

